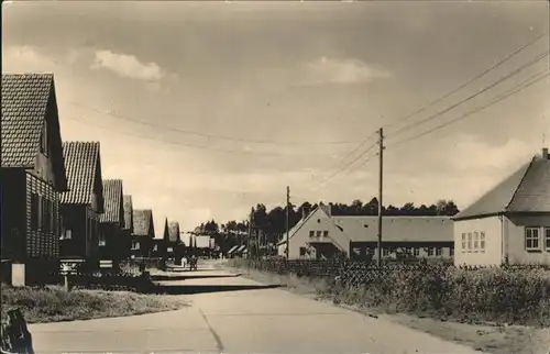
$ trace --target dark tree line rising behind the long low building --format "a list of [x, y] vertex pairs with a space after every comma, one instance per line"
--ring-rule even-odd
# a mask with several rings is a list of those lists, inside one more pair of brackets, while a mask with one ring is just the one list
[[[332, 215], [377, 215], [378, 199], [373, 198], [364, 203], [356, 199], [350, 204], [346, 203], [328, 203], [331, 208]], [[300, 206], [290, 204], [289, 208], [289, 228], [293, 228], [302, 218], [318, 207], [317, 203], [304, 202]], [[415, 206], [413, 202], [407, 202], [402, 207], [387, 206], [383, 207], [383, 214], [388, 217], [405, 215], [405, 217], [436, 217], [447, 215], [452, 217], [459, 212], [459, 208], [452, 200], [440, 199], [431, 206]], [[251, 210], [253, 226], [262, 231], [266, 243], [276, 243], [286, 232], [286, 207], [277, 206], [267, 210], [265, 204], [257, 203]], [[209, 234], [215, 239], [217, 246], [221, 251], [228, 251], [234, 245], [243, 244], [246, 241], [250, 228], [248, 220], [231, 220], [226, 223], [218, 223], [216, 220], [202, 222], [195, 229], [197, 234]]]

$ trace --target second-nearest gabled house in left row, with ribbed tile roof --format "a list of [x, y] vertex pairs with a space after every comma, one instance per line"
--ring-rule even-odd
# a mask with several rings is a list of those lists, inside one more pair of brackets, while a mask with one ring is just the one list
[[99, 218], [105, 212], [99, 142], [64, 142], [69, 191], [62, 195], [61, 257], [99, 267]]

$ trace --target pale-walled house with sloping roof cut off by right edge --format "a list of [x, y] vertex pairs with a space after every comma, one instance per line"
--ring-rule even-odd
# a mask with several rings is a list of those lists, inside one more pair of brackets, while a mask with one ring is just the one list
[[454, 217], [457, 265], [550, 264], [548, 148]]

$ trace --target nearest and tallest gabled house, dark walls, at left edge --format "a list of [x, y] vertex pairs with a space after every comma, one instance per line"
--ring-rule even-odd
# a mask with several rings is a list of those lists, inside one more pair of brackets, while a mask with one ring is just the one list
[[59, 199], [68, 190], [54, 76], [2, 74], [1, 258], [14, 285], [57, 267]]

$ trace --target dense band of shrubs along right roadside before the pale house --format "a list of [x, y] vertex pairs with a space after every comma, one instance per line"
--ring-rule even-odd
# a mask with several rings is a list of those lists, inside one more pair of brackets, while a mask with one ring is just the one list
[[[550, 270], [443, 264], [389, 265], [277, 261], [234, 262], [257, 269], [324, 279], [334, 302], [424, 313], [461, 321], [550, 325]], [[293, 280], [295, 283], [295, 280]]]

